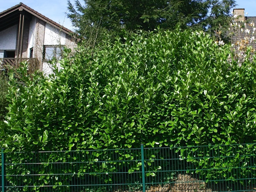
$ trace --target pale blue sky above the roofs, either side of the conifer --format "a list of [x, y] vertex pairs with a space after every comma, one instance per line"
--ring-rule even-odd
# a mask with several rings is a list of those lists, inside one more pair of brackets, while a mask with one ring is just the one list
[[[20, 1], [64, 27], [73, 30], [70, 20], [65, 15], [67, 12], [66, 0], [0, 0], [0, 12], [19, 4]], [[256, 16], [256, 0], [237, 0], [236, 8], [245, 8], [248, 16]]]

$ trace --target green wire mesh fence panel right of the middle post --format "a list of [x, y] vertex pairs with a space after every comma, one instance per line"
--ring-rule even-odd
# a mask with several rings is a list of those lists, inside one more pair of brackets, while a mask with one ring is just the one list
[[256, 191], [255, 144], [145, 148], [147, 192]]

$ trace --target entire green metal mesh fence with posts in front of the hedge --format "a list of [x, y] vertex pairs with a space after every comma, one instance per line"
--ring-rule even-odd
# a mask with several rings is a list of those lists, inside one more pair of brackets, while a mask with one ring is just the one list
[[2, 192], [256, 192], [256, 144], [4, 156]]

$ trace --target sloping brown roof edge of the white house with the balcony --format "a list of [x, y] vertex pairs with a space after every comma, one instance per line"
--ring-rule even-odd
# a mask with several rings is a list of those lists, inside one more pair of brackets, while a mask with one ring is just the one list
[[[63, 32], [69, 34], [69, 33], [74, 33], [73, 31], [67, 29], [66, 27], [60, 25], [59, 23], [54, 22], [52, 19], [49, 19], [48, 17], [38, 13], [37, 11], [33, 10], [32, 8], [28, 7], [27, 5], [23, 4], [23, 3], [19, 3], [18, 5], [15, 5], [3, 12], [0, 12], [0, 19], [7, 17], [7, 19], [12, 19], [12, 15], [15, 15], [15, 12], [20, 11], [20, 10], [25, 10], [27, 12], [29, 12], [30, 14], [36, 16], [37, 18], [43, 20], [46, 23], [49, 23], [50, 25], [56, 27], [59, 30], [62, 30]], [[8, 16], [10, 15], [10, 16]], [[1, 22], [0, 22], [1, 25]], [[1, 27], [0, 27], [1, 28]]]

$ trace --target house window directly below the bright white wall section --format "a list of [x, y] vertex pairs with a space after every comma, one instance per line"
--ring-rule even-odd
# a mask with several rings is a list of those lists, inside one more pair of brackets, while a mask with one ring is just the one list
[[53, 58], [56, 58], [57, 60], [60, 60], [62, 57], [62, 52], [63, 52], [63, 47], [62, 46], [51, 46], [47, 45], [44, 46], [44, 60], [50, 61]]

